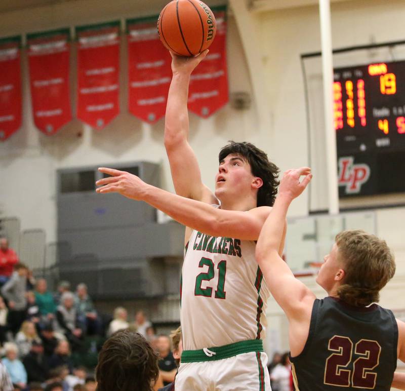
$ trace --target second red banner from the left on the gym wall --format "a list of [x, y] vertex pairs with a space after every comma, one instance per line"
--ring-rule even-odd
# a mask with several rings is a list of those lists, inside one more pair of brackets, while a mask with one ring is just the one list
[[35, 126], [55, 134], [71, 119], [68, 28], [27, 34], [29, 79]]

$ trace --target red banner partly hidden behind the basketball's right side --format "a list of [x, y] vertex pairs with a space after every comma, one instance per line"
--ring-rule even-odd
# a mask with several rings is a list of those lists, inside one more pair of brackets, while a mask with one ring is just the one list
[[191, 73], [188, 109], [204, 118], [229, 100], [226, 65], [226, 7], [212, 9], [217, 33], [207, 57]]

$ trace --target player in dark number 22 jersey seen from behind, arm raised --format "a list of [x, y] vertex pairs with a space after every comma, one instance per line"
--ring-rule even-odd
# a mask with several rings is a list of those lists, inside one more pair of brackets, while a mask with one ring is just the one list
[[294, 277], [278, 254], [280, 224], [310, 179], [308, 168], [285, 173], [256, 247], [270, 293], [289, 320], [296, 389], [389, 391], [391, 383], [405, 389], [404, 374], [395, 374], [393, 382], [397, 357], [405, 361], [405, 323], [372, 304], [395, 271], [385, 241], [364, 231], [340, 232], [316, 278], [328, 292], [322, 300]]

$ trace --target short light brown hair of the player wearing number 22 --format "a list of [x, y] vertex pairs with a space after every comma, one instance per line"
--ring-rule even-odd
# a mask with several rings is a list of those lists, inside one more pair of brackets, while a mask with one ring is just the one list
[[336, 245], [345, 270], [339, 298], [355, 306], [378, 302], [380, 290], [395, 273], [387, 243], [362, 230], [346, 230], [336, 235]]

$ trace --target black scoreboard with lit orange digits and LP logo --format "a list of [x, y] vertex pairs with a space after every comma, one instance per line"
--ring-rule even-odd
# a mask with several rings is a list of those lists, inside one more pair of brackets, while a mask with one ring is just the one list
[[334, 69], [339, 197], [405, 191], [405, 61]]

